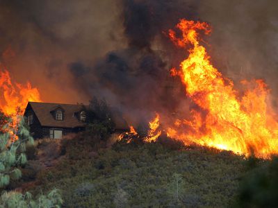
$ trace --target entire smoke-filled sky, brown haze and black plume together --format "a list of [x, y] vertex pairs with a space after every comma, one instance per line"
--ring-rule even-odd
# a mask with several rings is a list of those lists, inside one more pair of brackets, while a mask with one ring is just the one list
[[224, 76], [263, 78], [277, 96], [275, 0], [0, 0], [0, 52], [15, 80], [42, 100], [105, 98], [131, 118], [188, 110], [178, 78], [186, 52], [167, 38], [179, 19], [208, 21], [205, 42]]

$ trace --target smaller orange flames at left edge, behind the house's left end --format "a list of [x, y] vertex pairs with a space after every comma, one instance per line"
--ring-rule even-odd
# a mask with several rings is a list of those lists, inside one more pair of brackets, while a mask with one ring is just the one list
[[28, 101], [41, 101], [37, 88], [32, 87], [31, 83], [13, 83], [6, 69], [0, 71], [0, 96], [0, 110], [7, 115], [22, 114]]

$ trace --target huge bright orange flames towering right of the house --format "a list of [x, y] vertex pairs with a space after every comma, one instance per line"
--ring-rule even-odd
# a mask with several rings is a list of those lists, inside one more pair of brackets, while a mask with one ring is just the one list
[[171, 74], [181, 78], [186, 95], [202, 112], [193, 110], [190, 121], [176, 121], [167, 128], [168, 137], [246, 156], [268, 158], [277, 154], [278, 123], [266, 103], [269, 90], [263, 80], [243, 80], [245, 93], [240, 98], [234, 83], [213, 67], [206, 48], [199, 43], [199, 33], [211, 33], [210, 26], [182, 19], [177, 28], [182, 37], [170, 30], [170, 39], [179, 47], [189, 47], [189, 55]]

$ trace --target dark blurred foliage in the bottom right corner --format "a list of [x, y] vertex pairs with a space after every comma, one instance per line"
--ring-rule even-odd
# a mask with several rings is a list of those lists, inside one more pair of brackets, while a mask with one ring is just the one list
[[238, 207], [278, 206], [278, 157], [269, 162], [250, 159], [252, 169], [240, 183]]

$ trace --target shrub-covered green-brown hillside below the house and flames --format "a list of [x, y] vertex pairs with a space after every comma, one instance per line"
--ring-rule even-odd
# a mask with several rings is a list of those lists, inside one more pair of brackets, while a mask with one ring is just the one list
[[56, 187], [65, 207], [227, 207], [244, 172], [242, 157], [213, 149], [117, 144], [96, 151], [90, 143], [67, 141], [65, 156], [38, 173], [33, 192]]

